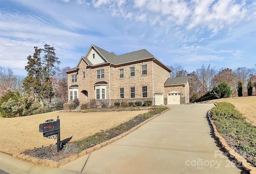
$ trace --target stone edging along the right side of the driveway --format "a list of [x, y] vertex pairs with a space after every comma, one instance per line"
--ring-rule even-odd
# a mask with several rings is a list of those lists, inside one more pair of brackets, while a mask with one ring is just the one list
[[214, 137], [218, 140], [220, 146], [224, 149], [224, 151], [227, 152], [228, 156], [234, 159], [236, 161], [236, 164], [241, 165], [242, 169], [248, 172], [249, 174], [256, 174], [256, 167], [252, 166], [249, 162], [246, 162], [246, 159], [244, 159], [244, 157], [240, 156], [240, 154], [235, 152], [234, 149], [230, 148], [230, 146], [228, 146], [228, 144], [226, 143], [225, 139], [222, 138], [220, 133], [217, 131], [216, 125], [214, 124], [210, 111], [207, 112], [207, 116], [214, 130]]

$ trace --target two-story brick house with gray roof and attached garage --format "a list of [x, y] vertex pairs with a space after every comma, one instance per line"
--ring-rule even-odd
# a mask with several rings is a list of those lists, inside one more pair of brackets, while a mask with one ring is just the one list
[[[66, 72], [68, 100], [79, 99], [80, 103], [86, 103], [96, 99], [98, 105], [102, 101], [110, 105], [116, 101], [145, 100], [153, 101], [153, 105], [188, 103], [186, 97], [189, 97], [190, 84], [177, 84], [178, 88], [175, 88], [169, 78], [170, 72], [146, 49], [116, 55], [91, 45], [76, 67]], [[179, 102], [178, 98], [176, 102], [171, 102], [168, 96], [172, 97], [172, 94], [173, 97], [180, 96]]]

